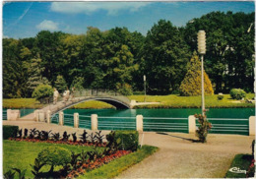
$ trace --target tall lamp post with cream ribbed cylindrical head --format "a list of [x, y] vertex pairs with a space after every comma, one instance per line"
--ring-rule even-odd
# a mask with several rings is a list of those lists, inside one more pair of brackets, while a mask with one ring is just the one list
[[204, 55], [206, 54], [206, 32], [199, 30], [197, 33], [198, 53], [201, 58], [201, 85], [202, 85], [202, 115], [205, 115], [205, 89], [204, 89]]

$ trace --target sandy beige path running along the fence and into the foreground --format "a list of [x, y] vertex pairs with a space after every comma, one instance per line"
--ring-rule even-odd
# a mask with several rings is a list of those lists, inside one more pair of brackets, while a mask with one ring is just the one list
[[[83, 133], [83, 129], [38, 122], [3, 121], [3, 124], [60, 133]], [[196, 138], [195, 135], [180, 133], [141, 134], [143, 145], [156, 146], [160, 150], [117, 178], [223, 178], [235, 154], [251, 153], [255, 136], [209, 135], [207, 144], [192, 143], [188, 139]]]

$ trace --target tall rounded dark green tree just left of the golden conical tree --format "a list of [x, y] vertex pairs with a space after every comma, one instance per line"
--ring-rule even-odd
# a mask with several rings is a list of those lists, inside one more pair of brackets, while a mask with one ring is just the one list
[[143, 59], [150, 93], [166, 94], [178, 89], [190, 53], [179, 30], [160, 20], [148, 31]]

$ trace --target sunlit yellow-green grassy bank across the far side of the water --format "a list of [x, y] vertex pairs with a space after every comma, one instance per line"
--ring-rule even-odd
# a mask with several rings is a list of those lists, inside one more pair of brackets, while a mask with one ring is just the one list
[[[137, 102], [144, 102], [144, 95], [130, 95], [129, 99], [135, 99]], [[254, 97], [254, 93], [248, 93], [247, 98]], [[170, 95], [147, 95], [147, 102], [160, 102], [154, 105], [141, 105], [136, 108], [200, 108], [201, 96], [179, 96]], [[247, 103], [244, 100], [231, 99], [229, 94], [224, 94], [222, 100], [218, 100], [218, 94], [205, 96], [206, 108], [229, 108], [229, 107], [255, 107], [255, 103]], [[3, 108], [41, 108], [40, 104], [33, 98], [12, 98], [3, 99]], [[87, 101], [73, 106], [74, 109], [107, 109], [113, 108], [110, 104], [100, 101]]]

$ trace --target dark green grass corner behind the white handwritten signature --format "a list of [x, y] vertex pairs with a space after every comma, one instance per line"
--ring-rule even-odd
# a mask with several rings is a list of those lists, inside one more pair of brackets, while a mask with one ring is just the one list
[[[233, 158], [233, 161], [231, 163], [231, 166], [229, 167], [238, 167], [240, 170], [246, 170], [248, 169], [249, 165], [251, 164], [252, 155], [251, 154], [236, 154]], [[228, 171], [225, 174], [225, 178], [246, 178], [245, 173], [233, 173]]]

